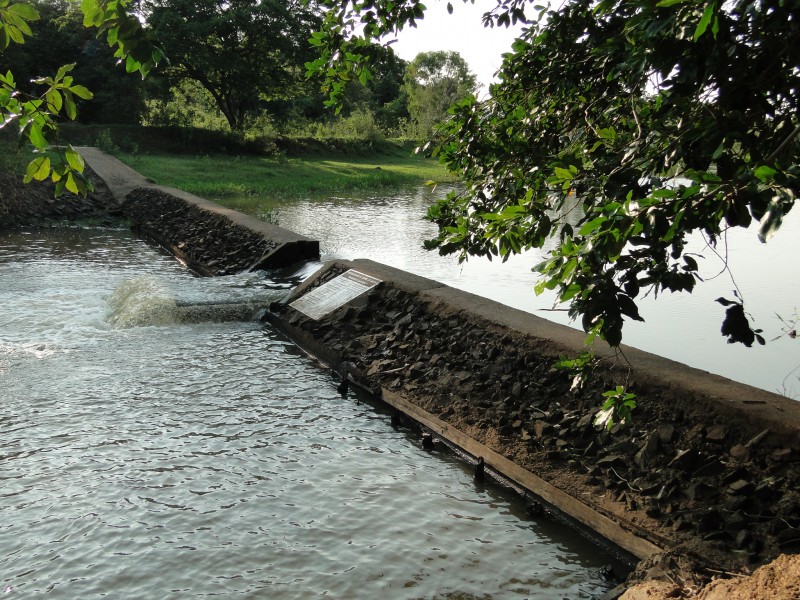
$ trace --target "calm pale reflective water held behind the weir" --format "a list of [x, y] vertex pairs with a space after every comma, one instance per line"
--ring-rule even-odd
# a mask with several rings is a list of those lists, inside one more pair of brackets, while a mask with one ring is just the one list
[[[471, 259], [459, 265], [452, 256], [423, 249], [436, 226], [423, 219], [441, 190], [411, 189], [380, 196], [274, 200], [226, 199], [227, 205], [269, 219], [322, 244], [323, 259], [370, 258], [450, 286], [497, 300], [538, 316], [578, 327], [566, 312], [554, 311], [553, 293], [536, 296], [533, 265], [548, 248], [498, 260]], [[800, 398], [800, 340], [784, 335], [784, 320], [800, 311], [797, 257], [800, 210], [784, 220], [767, 244], [753, 229], [733, 229], [711, 250], [699, 238], [690, 240], [705, 282], [692, 294], [662, 294], [637, 300], [645, 322], [629, 321], [623, 342], [690, 366]], [[731, 273], [723, 271], [725, 261]], [[720, 334], [725, 309], [716, 298], [735, 299], [737, 289], [755, 326], [764, 330], [765, 346], [726, 344]], [[563, 308], [563, 307], [562, 307]], [[777, 338], [777, 339], [776, 339]]]

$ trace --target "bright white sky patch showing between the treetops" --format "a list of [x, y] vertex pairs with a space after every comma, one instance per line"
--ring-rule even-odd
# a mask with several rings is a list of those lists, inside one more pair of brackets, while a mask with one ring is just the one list
[[417, 22], [416, 28], [407, 27], [401, 31], [392, 48], [407, 61], [414, 60], [420, 52], [455, 50], [467, 61], [485, 90], [495, 80], [494, 73], [503, 62], [502, 55], [511, 50], [521, 27], [492, 29], [483, 26], [481, 16], [497, 5], [496, 0], [475, 0], [475, 4], [451, 1], [452, 15], [447, 14], [446, 0], [426, 2], [425, 18]]

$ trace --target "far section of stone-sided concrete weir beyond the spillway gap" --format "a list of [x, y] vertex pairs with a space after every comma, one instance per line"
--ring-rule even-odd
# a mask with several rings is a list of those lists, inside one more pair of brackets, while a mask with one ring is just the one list
[[97, 148], [78, 149], [133, 228], [200, 275], [319, 258], [319, 242], [182, 190], [159, 186]]

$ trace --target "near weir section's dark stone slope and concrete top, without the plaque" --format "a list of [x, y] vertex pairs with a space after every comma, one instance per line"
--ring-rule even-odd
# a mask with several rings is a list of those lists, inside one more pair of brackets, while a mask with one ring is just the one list
[[[371, 261], [331, 263], [289, 301], [350, 268], [383, 283], [319, 320], [288, 304], [271, 320], [377, 396], [408, 399], [669, 551], [643, 568], [688, 560], [696, 576], [800, 550], [797, 402], [633, 348], [630, 371], [606, 349], [576, 388], [553, 365], [582, 349], [581, 332]], [[602, 392], [623, 382], [633, 423], [595, 426]]]

